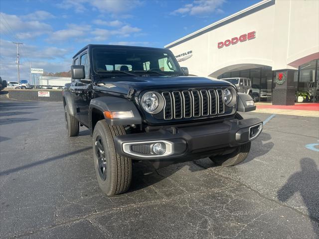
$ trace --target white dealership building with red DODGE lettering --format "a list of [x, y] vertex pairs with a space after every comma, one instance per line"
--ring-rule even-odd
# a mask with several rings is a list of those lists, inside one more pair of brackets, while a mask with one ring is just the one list
[[165, 48], [190, 75], [247, 77], [273, 104], [291, 105], [318, 87], [319, 0], [263, 0]]

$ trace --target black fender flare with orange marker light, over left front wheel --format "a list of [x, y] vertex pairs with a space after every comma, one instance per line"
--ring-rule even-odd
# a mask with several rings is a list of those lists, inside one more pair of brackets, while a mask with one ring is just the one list
[[103, 96], [92, 99], [89, 106], [89, 120], [90, 120], [90, 131], [92, 130], [92, 111], [96, 109], [100, 112], [104, 111], [131, 111], [133, 113], [133, 118], [127, 119], [107, 119], [110, 125], [127, 125], [127, 124], [141, 124], [142, 117], [136, 105], [125, 98], [114, 97], [114, 96]]

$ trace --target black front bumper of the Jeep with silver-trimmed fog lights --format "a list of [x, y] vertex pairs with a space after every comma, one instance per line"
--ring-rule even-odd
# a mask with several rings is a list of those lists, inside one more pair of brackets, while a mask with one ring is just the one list
[[[187, 157], [210, 156], [214, 151], [252, 141], [259, 136], [262, 128], [263, 122], [258, 118], [231, 119], [218, 123], [120, 135], [115, 137], [114, 143], [119, 154], [133, 159], [177, 161], [176, 159], [180, 158], [187, 161]], [[130, 145], [152, 145], [156, 142], [166, 145], [167, 150], [162, 155], [130, 149]]]

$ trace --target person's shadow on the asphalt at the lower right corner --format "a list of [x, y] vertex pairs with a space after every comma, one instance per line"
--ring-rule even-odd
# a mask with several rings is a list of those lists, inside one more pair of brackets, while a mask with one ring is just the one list
[[319, 170], [312, 158], [300, 160], [302, 171], [291, 175], [286, 184], [277, 192], [277, 198], [286, 202], [294, 194], [300, 193], [313, 220], [313, 228], [319, 237]]

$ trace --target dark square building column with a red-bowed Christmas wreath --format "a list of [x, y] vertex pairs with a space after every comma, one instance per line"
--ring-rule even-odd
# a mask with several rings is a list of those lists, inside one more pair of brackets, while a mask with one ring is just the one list
[[276, 71], [274, 83], [276, 84], [273, 94], [273, 105], [293, 106], [295, 105], [295, 86], [294, 86], [295, 70]]

